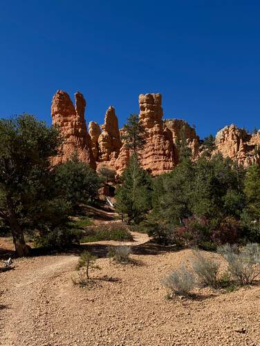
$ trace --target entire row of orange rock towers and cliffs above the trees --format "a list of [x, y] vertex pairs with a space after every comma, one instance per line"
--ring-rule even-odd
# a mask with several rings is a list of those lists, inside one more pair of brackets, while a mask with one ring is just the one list
[[[146, 144], [140, 151], [142, 167], [151, 175], [167, 173], [178, 164], [177, 141], [186, 138], [192, 149], [192, 158], [201, 155], [201, 143], [195, 128], [182, 119], [163, 119], [162, 96], [160, 94], [141, 94], [139, 96], [139, 121], [146, 129]], [[67, 93], [58, 90], [53, 96], [51, 115], [53, 124], [57, 124], [64, 135], [62, 155], [54, 158], [54, 164], [68, 160], [75, 151], [78, 157], [88, 162], [93, 169], [106, 166], [115, 169], [120, 175], [129, 161], [131, 153], [126, 148], [120, 135], [124, 129], [118, 128], [118, 117], [115, 108], [106, 110], [104, 124], [89, 123], [86, 130], [84, 111], [86, 101], [79, 92], [75, 93], [75, 106]], [[222, 153], [231, 157], [243, 166], [260, 164], [259, 151], [260, 132], [250, 135], [234, 125], [225, 126], [216, 134], [214, 153]]]

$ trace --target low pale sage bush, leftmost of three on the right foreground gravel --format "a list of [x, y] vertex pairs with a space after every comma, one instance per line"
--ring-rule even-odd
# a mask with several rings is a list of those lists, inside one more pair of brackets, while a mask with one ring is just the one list
[[189, 296], [190, 291], [195, 287], [195, 278], [193, 273], [180, 265], [178, 269], [173, 271], [167, 278], [163, 279], [163, 285], [171, 291], [172, 294], [180, 296]]

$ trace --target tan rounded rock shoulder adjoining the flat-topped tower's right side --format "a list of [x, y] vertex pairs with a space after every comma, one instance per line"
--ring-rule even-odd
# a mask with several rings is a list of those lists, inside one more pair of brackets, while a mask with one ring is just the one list
[[196, 159], [198, 157], [200, 140], [195, 128], [182, 119], [165, 119], [163, 122], [165, 127], [171, 131], [174, 144], [185, 140], [189, 148], [192, 149], [193, 158]]

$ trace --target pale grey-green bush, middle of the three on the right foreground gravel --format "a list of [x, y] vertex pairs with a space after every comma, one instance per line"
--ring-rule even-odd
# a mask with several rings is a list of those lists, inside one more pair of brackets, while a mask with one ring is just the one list
[[202, 286], [217, 287], [218, 262], [211, 260], [201, 252], [194, 251], [192, 266]]

